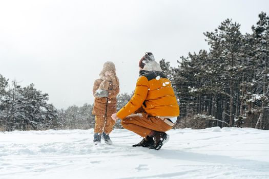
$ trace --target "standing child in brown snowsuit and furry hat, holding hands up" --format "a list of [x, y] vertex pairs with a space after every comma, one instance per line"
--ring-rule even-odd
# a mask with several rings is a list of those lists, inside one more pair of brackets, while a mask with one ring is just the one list
[[119, 80], [116, 76], [115, 64], [111, 61], [104, 63], [100, 78], [93, 85], [94, 106], [92, 114], [95, 115], [94, 140], [95, 144], [101, 142], [101, 138], [107, 144], [112, 144], [109, 133], [112, 131], [115, 121], [111, 115], [117, 111], [116, 96], [119, 93]]

